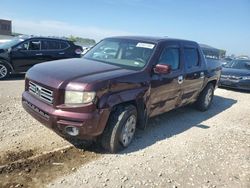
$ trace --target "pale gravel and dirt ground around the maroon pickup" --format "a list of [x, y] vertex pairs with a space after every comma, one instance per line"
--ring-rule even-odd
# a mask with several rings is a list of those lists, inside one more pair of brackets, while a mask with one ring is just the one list
[[211, 109], [150, 120], [119, 154], [77, 149], [21, 106], [23, 77], [0, 82], [0, 187], [250, 187], [250, 93], [217, 89]]

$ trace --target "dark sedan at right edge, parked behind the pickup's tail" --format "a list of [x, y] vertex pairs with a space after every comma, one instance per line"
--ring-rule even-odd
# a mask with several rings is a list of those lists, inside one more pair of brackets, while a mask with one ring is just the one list
[[250, 60], [235, 59], [226, 64], [219, 85], [250, 91]]

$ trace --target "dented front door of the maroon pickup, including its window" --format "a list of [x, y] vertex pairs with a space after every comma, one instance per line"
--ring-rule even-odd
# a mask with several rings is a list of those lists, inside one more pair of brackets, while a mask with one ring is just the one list
[[151, 78], [150, 116], [167, 112], [176, 106], [181, 94], [180, 77], [183, 74], [180, 46], [177, 42], [168, 42], [161, 50], [156, 64], [171, 65], [169, 74], [153, 73]]

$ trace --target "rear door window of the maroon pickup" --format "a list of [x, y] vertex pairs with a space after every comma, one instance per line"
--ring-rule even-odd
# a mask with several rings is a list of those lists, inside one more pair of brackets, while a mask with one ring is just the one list
[[184, 48], [184, 58], [187, 68], [199, 66], [199, 55], [196, 48]]

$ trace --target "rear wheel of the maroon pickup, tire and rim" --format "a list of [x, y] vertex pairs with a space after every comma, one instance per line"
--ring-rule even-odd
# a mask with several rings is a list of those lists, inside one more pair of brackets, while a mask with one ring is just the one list
[[196, 108], [202, 112], [207, 111], [211, 106], [214, 97], [214, 86], [209, 83], [200, 93], [197, 101]]

